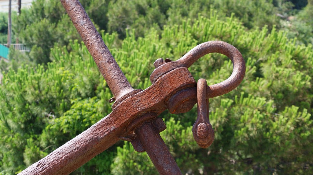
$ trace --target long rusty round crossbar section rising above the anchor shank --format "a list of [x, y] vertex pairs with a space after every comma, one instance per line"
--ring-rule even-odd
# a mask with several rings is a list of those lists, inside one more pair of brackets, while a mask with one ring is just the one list
[[133, 91], [79, 0], [61, 0], [67, 14], [108, 83], [115, 99]]

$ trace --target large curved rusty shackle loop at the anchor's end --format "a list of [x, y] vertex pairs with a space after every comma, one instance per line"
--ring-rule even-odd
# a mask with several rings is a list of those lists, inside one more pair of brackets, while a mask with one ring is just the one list
[[177, 61], [168, 62], [159, 66], [151, 73], [150, 80], [154, 83], [159, 77], [171, 70], [179, 67], [189, 68], [199, 58], [210, 53], [221, 53], [226, 55], [233, 62], [233, 73], [225, 81], [208, 86], [207, 98], [226, 94], [235, 89], [242, 82], [246, 72], [246, 65], [239, 50], [233, 45], [223, 41], [208, 41], [197, 45]]

